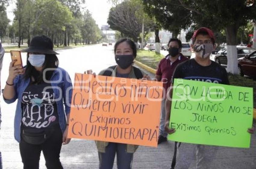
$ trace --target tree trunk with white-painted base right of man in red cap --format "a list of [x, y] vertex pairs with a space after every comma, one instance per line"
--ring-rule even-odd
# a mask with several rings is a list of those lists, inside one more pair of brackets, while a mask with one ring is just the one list
[[227, 72], [238, 74], [238, 60], [237, 60], [237, 31], [238, 26], [235, 24], [226, 27], [227, 40]]

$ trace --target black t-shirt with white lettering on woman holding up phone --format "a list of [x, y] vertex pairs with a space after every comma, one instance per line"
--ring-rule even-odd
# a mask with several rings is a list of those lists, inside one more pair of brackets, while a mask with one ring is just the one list
[[55, 99], [51, 84], [30, 84], [22, 95], [22, 128], [36, 132], [59, 123]]

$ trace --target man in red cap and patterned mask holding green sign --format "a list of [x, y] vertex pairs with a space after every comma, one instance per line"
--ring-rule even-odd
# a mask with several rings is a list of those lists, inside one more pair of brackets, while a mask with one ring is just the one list
[[[199, 28], [192, 37], [191, 47], [194, 49], [195, 58], [179, 64], [174, 73], [174, 79], [196, 80], [201, 82], [211, 82], [229, 85], [226, 69], [221, 67], [214, 61], [210, 60], [211, 52], [215, 48], [215, 38], [212, 30], [208, 28]], [[175, 129], [169, 128], [170, 108], [172, 88], [167, 93], [166, 99], [166, 121], [165, 130], [172, 134]], [[248, 129], [249, 133], [253, 133], [253, 129]], [[196, 169], [208, 169], [211, 161], [217, 152], [217, 146], [188, 144], [175, 142], [175, 150], [173, 155], [172, 169], [186, 169], [196, 155]], [[177, 156], [176, 156], [177, 155]]]

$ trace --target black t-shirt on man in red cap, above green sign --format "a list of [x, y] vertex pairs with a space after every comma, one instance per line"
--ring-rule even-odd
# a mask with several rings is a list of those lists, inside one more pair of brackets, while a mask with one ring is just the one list
[[180, 63], [173, 73], [172, 83], [174, 79], [196, 80], [229, 85], [226, 69], [214, 61], [211, 61], [209, 66], [201, 66], [195, 59], [189, 59]]

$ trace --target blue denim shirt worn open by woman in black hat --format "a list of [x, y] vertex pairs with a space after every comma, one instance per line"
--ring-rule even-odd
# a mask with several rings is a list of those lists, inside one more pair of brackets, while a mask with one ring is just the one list
[[[62, 68], [58, 67], [52, 74], [51, 85], [56, 98], [61, 98], [56, 100], [59, 124], [62, 132], [66, 129], [66, 115], [70, 113], [70, 105], [72, 99], [73, 86], [70, 80], [69, 74]], [[10, 100], [5, 100], [7, 104], [15, 102], [18, 99], [15, 117], [14, 117], [14, 138], [20, 142], [20, 124], [22, 118], [21, 100], [22, 94], [27, 86], [30, 84], [30, 79], [24, 79], [23, 75], [18, 75], [14, 79], [14, 90], [15, 96]], [[64, 111], [65, 105], [65, 111]]]

